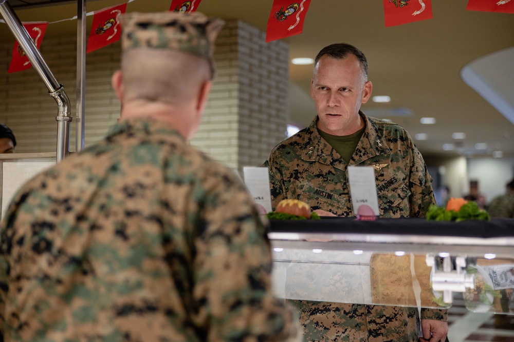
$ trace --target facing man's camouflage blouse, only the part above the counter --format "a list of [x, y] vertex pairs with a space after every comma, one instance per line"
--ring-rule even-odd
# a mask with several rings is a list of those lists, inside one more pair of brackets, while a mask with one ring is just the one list
[[[435, 204], [432, 178], [409, 133], [396, 124], [361, 116], [365, 130], [348, 165], [375, 168], [380, 217], [424, 217]], [[273, 208], [284, 198], [296, 198], [312, 210], [356, 216], [346, 181], [347, 164], [321, 138], [316, 119], [277, 145], [265, 166]]]

